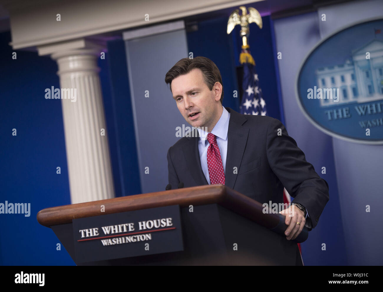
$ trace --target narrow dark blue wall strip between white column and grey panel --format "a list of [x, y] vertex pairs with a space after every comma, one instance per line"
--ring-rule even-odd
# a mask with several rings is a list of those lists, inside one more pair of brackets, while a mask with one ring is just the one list
[[[111, 81], [110, 90], [103, 92], [103, 96], [108, 129], [113, 129], [113, 133], [110, 133], [113, 134], [110, 135], [110, 152], [116, 196], [136, 195], [141, 193], [141, 185], [123, 40], [108, 42], [106, 60], [109, 75], [100, 73], [100, 78], [101, 83], [108, 77]], [[104, 83], [102, 86], [104, 89]]]

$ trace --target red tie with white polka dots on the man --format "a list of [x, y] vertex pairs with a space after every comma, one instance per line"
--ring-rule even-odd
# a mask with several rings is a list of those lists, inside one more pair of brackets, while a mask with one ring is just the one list
[[225, 173], [223, 171], [223, 164], [221, 159], [221, 153], [219, 152], [217, 137], [212, 133], [208, 134], [208, 141], [210, 143], [208, 148], [208, 170], [210, 177], [210, 184], [216, 183], [225, 184]]

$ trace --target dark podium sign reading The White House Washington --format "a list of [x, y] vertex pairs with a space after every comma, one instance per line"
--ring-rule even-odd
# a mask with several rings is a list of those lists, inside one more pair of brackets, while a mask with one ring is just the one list
[[76, 263], [183, 250], [179, 205], [73, 219]]

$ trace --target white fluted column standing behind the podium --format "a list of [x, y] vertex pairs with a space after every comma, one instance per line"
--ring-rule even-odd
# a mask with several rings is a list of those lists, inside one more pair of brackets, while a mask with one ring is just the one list
[[[98, 75], [99, 56], [99, 49], [66, 50], [51, 55], [59, 67], [61, 88], [73, 89], [71, 99], [61, 99], [72, 204], [115, 196]], [[105, 136], [101, 135], [102, 129]]]

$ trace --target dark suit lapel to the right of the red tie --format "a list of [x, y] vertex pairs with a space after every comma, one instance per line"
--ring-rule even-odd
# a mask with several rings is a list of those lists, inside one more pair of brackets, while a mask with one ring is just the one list
[[[229, 130], [228, 130], [228, 152], [226, 154], [225, 185], [234, 188], [237, 179], [239, 166], [242, 162], [243, 153], [249, 135], [249, 129], [242, 127], [246, 118], [235, 112], [229, 107], [226, 110], [230, 112]], [[234, 167], [237, 171], [234, 174]]]

